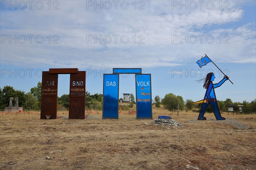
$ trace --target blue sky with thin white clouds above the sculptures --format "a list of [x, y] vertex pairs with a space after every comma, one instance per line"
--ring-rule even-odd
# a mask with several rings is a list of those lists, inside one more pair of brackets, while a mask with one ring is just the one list
[[[0, 1], [0, 87], [30, 91], [49, 68], [87, 71], [86, 90], [103, 91], [103, 73], [143, 68], [152, 97], [173, 93], [200, 100], [195, 80], [213, 71], [199, 68], [207, 54], [230, 77], [217, 99], [256, 98], [256, 3], [248, 1]], [[26, 7], [26, 8], [25, 8]], [[96, 38], [96, 39], [95, 39]], [[59, 75], [58, 96], [69, 93], [69, 75]], [[120, 75], [119, 96], [135, 94], [134, 75]]]

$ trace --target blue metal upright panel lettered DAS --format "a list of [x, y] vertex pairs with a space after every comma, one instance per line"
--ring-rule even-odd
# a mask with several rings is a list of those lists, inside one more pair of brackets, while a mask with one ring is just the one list
[[118, 119], [119, 74], [103, 75], [102, 119]]

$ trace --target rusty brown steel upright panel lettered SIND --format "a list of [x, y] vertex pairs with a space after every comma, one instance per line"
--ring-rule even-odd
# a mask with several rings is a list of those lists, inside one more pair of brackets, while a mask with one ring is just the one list
[[86, 71], [70, 74], [69, 119], [84, 119]]

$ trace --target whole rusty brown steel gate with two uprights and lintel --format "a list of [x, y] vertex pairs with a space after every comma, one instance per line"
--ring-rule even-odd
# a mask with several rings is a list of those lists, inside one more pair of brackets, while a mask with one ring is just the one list
[[43, 71], [41, 119], [57, 118], [58, 74], [70, 74], [69, 119], [84, 119], [85, 71], [78, 68], [50, 68]]

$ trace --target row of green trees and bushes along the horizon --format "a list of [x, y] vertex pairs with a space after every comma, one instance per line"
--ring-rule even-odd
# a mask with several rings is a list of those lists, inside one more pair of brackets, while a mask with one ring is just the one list
[[[15, 90], [12, 86], [4, 86], [3, 89], [0, 88], [0, 110], [3, 110], [4, 107], [9, 106], [10, 97], [18, 97], [19, 106], [23, 107], [24, 110], [41, 110], [41, 89], [42, 83], [38, 82], [37, 86], [30, 89], [30, 92], [25, 93], [25, 91]], [[85, 108], [86, 110], [102, 110], [102, 94], [90, 94], [88, 91], [85, 91]], [[122, 99], [122, 98], [121, 98]], [[130, 107], [133, 107], [136, 104], [134, 95], [130, 95]], [[176, 96], [175, 94], [169, 93], [164, 96], [163, 99], [160, 99], [160, 96], [155, 96], [154, 105], [157, 108], [160, 108], [161, 105], [169, 111], [177, 111], [177, 106], [179, 104], [179, 110], [183, 111], [197, 111], [201, 108], [202, 104], [197, 105], [187, 105], [188, 103], [194, 102], [192, 99], [186, 99], [184, 102], [182, 96]], [[231, 99], [226, 99], [225, 101], [218, 100], [218, 106], [220, 111], [227, 111], [225, 105], [244, 105], [244, 113], [256, 113], [256, 99], [252, 102], [232, 102]], [[63, 94], [61, 97], [58, 97], [58, 109], [68, 110], [69, 108], [69, 94]], [[234, 107], [234, 111], [238, 112], [238, 107]], [[207, 112], [212, 112], [212, 108], [208, 107]]]

